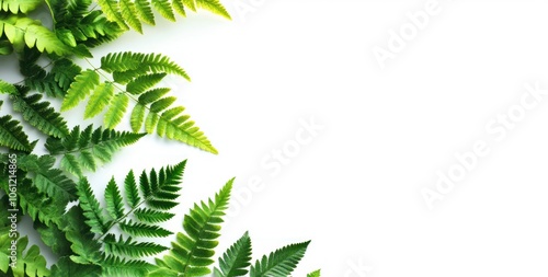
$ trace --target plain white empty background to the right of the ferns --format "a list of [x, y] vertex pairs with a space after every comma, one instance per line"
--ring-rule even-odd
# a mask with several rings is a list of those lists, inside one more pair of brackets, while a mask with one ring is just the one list
[[[374, 47], [426, 2], [225, 0], [231, 22], [201, 12], [98, 49], [183, 66], [193, 81], [169, 84], [219, 154], [147, 137], [93, 174], [94, 188], [189, 159], [180, 230], [193, 201], [236, 176], [218, 252], [246, 230], [256, 258], [310, 239], [294, 276], [547, 276], [548, 96], [500, 141], [486, 126], [521, 104], [524, 84], [548, 89], [548, 3], [435, 1], [383, 69]], [[261, 164], [310, 118], [323, 129], [288, 164]], [[478, 140], [489, 154], [429, 209], [421, 189]], [[249, 194], [254, 176], [264, 187]]]

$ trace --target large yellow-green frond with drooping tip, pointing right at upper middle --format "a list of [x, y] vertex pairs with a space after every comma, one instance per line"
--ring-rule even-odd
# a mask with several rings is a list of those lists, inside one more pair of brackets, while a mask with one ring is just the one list
[[[111, 73], [115, 83], [101, 83], [98, 70]], [[165, 96], [170, 89], [153, 88], [167, 74], [176, 74], [190, 80], [186, 72], [168, 57], [156, 54], [117, 53], [101, 58], [101, 68], [84, 70], [76, 77], [65, 96], [61, 111], [76, 107], [88, 100], [84, 117], [93, 117], [106, 109], [104, 126], [115, 128], [128, 109], [130, 100], [136, 100], [130, 115], [134, 132], [142, 128], [160, 137], [179, 140], [198, 149], [217, 153], [203, 131], [195, 126], [182, 106], [172, 106], [174, 96]], [[125, 85], [115, 93], [114, 88]]]

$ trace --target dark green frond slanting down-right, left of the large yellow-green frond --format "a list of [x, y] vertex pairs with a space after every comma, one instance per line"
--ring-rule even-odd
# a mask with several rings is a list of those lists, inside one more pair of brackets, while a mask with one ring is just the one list
[[61, 115], [49, 105], [41, 101], [41, 94], [28, 95], [30, 89], [16, 86], [16, 92], [10, 94], [13, 111], [23, 115], [23, 119], [45, 135], [61, 138], [67, 136], [67, 123]]

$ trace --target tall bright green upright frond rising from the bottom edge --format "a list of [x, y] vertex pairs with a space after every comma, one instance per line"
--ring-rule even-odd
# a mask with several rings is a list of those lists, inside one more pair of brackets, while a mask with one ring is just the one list
[[[162, 269], [153, 272], [151, 276], [167, 274], [167, 276], [192, 277], [212, 273], [208, 266], [214, 263], [212, 257], [218, 244], [220, 223], [228, 208], [232, 182], [233, 180], [230, 180], [214, 199], [194, 205], [194, 208], [185, 215], [183, 220], [185, 233], [176, 234], [176, 241], [172, 242], [170, 253], [163, 259], [157, 259]], [[171, 274], [168, 274], [169, 272]]]

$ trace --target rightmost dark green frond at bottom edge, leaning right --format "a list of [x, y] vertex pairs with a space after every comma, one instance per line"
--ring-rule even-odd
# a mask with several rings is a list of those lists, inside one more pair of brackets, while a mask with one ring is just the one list
[[305, 256], [308, 244], [310, 242], [290, 244], [264, 255], [251, 266], [250, 277], [289, 276]]

